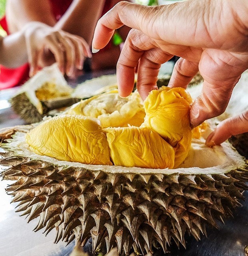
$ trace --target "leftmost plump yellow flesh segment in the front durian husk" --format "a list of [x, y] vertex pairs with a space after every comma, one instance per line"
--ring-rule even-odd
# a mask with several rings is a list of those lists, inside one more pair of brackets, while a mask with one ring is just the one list
[[62, 161], [112, 165], [105, 133], [98, 119], [61, 115], [48, 119], [26, 135], [30, 149]]

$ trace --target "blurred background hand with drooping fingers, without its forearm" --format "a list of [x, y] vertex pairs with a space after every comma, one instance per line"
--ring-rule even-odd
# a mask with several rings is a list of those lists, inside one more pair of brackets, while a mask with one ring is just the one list
[[[41, 22], [30, 22], [24, 29], [30, 76], [46, 64], [44, 50], [50, 50], [60, 71], [70, 76], [74, 67], [82, 69], [85, 57], [91, 57], [86, 41], [63, 30], [56, 30]], [[51, 64], [51, 63], [50, 63]]]

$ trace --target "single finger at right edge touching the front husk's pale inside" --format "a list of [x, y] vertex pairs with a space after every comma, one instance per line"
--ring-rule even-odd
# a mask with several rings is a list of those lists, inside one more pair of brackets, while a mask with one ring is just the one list
[[238, 116], [230, 117], [217, 125], [206, 139], [206, 145], [212, 147], [219, 145], [232, 135], [248, 132], [248, 111]]

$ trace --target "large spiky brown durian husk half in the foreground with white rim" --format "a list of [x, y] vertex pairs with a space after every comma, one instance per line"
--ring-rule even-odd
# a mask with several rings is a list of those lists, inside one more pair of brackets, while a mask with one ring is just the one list
[[[240, 83], [246, 81], [244, 74]], [[1, 144], [1, 164], [8, 167], [2, 178], [14, 181], [7, 193], [20, 202], [17, 211], [28, 221], [38, 217], [35, 231], [56, 228], [55, 242], [84, 244], [91, 237], [93, 251], [117, 246], [118, 253], [146, 254], [160, 246], [166, 252], [172, 241], [186, 246], [185, 234], [200, 239], [206, 226], [217, 227], [244, 200], [246, 159], [228, 142], [206, 147], [207, 131], [193, 139], [177, 169], [144, 169], [37, 155], [25, 141], [31, 127], [23, 128]]]

